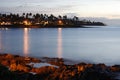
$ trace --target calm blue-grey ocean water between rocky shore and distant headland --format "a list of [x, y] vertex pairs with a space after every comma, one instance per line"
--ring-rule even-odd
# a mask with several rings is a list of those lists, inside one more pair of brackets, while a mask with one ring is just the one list
[[0, 52], [120, 64], [120, 27], [0, 29]]

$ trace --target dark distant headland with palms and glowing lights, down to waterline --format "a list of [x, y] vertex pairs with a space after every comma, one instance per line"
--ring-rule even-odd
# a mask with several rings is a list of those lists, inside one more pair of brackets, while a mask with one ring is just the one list
[[105, 26], [102, 22], [81, 20], [77, 16], [68, 18], [67, 15], [58, 17], [53, 14], [0, 14], [0, 27], [8, 28], [84, 28], [84, 26]]

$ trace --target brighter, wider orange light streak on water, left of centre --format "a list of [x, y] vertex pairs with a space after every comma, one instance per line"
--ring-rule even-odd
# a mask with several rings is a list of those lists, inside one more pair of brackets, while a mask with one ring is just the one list
[[24, 28], [24, 44], [23, 44], [23, 52], [26, 57], [28, 57], [29, 53], [29, 36], [28, 36], [28, 28]]

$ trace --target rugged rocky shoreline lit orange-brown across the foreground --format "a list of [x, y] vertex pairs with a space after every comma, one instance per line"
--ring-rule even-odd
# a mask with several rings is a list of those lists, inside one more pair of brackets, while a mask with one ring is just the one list
[[115, 79], [118, 72], [120, 65], [84, 62], [70, 65], [62, 58], [0, 54], [0, 80], [119, 80]]

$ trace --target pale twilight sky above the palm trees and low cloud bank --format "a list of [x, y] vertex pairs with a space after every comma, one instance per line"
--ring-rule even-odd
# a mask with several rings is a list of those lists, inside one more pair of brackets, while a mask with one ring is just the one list
[[120, 0], [0, 0], [0, 13], [47, 13], [120, 18]]

